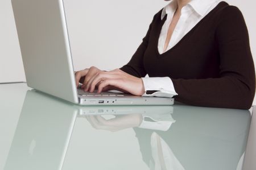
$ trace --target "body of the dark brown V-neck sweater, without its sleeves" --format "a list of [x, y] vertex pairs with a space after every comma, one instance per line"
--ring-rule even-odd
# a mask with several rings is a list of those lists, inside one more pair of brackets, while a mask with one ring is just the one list
[[[171, 49], [160, 54], [158, 40], [166, 16], [156, 15], [144, 52], [144, 69], [150, 77], [208, 78], [219, 76], [220, 56], [215, 32], [222, 9], [220, 2]], [[184, 69], [185, 68], [185, 69]]]

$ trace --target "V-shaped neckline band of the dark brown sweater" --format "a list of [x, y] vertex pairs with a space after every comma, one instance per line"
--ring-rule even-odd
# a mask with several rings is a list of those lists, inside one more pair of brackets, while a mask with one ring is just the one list
[[161, 30], [162, 30], [163, 24], [164, 24], [164, 22], [166, 22], [166, 19], [167, 19], [167, 15], [164, 16], [164, 18], [161, 20], [161, 26], [160, 26], [160, 28], [158, 29], [158, 34], [157, 34], [158, 36], [156, 37], [157, 39], [156, 39], [156, 41], [155, 41], [156, 43], [155, 43], [155, 45], [154, 45], [155, 48], [156, 48], [156, 54], [157, 54], [157, 56], [158, 56], [158, 57], [163, 57], [163, 56], [167, 55], [167, 53], [170, 53], [170, 52], [173, 51], [175, 48], [177, 48], [177, 46], [179, 46], [179, 44], [182, 43], [182, 42], [188, 37], [188, 35], [191, 34], [191, 32], [192, 32], [193, 30], [195, 30], [195, 29], [200, 25], [200, 23], [205, 20], [205, 18], [208, 18], [210, 14], [212, 14], [215, 10], [217, 10], [218, 7], [222, 5], [222, 3], [226, 4], [225, 1], [221, 1], [220, 3], [218, 3], [218, 5], [217, 5], [216, 7], [214, 7], [214, 9], [212, 9], [212, 11], [210, 11], [207, 15], [205, 15], [204, 18], [202, 18], [191, 30], [189, 30], [189, 31], [187, 32], [187, 34], [185, 34], [185, 35], [183, 36], [183, 38], [181, 38], [181, 39], [179, 40], [179, 42], [177, 42], [172, 48], [170, 48], [170, 49], [168, 49], [167, 51], [165, 51], [165, 52], [163, 52], [162, 54], [160, 54], [159, 51], [158, 51], [159, 37], [160, 37], [160, 33], [161, 33]]

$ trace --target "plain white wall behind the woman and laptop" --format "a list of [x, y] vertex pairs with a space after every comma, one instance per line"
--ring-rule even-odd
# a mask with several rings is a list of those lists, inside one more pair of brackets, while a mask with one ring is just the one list
[[[238, 6], [245, 17], [255, 61], [256, 3], [253, 0], [226, 2]], [[64, 0], [75, 70], [91, 65], [101, 69], [122, 67], [146, 35], [154, 14], [167, 3], [163, 0]], [[0, 1], [0, 23], [0, 82], [26, 81], [11, 0]]]

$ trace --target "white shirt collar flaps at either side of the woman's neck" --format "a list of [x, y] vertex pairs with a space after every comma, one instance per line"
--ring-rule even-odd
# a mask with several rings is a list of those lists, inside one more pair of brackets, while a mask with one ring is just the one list
[[[209, 9], [210, 5], [212, 5], [212, 3], [215, 1], [219, 1], [219, 0], [191, 0], [188, 3], [188, 5], [190, 5], [197, 14], [199, 14], [200, 16], [203, 16]], [[163, 19], [166, 14], [174, 13], [176, 9], [177, 9], [176, 0], [172, 0], [167, 6], [163, 8], [161, 19]]]

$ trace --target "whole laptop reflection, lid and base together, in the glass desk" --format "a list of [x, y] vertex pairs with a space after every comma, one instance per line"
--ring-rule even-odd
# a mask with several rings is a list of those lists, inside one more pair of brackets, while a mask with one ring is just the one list
[[62, 169], [76, 120], [88, 115], [159, 113], [171, 117], [172, 112], [172, 106], [84, 107], [28, 90], [4, 170]]

